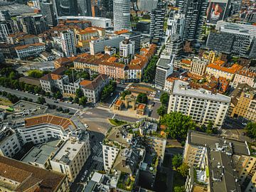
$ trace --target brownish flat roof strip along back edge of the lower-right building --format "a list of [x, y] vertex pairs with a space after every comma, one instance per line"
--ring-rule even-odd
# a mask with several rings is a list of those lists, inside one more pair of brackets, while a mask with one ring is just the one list
[[218, 137], [218, 135], [209, 135], [201, 132], [188, 132], [188, 144], [194, 144], [198, 146], [207, 146], [210, 149], [216, 148], [216, 143], [223, 145], [224, 142], [232, 143], [234, 154], [244, 154], [250, 156], [250, 151], [245, 142], [238, 142], [232, 139], [223, 139], [223, 137]]

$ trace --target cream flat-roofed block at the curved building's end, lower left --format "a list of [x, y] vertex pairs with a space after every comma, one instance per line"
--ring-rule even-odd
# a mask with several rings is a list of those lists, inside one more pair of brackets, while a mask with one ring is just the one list
[[69, 139], [65, 141], [52, 159], [50, 165], [53, 171], [57, 171], [68, 176], [68, 181], [74, 182], [82, 169], [82, 166], [90, 156], [89, 134], [86, 141]]

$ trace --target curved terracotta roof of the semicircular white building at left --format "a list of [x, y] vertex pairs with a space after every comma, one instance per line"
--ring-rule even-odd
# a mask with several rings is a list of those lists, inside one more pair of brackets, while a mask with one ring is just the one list
[[76, 129], [75, 124], [73, 124], [70, 119], [65, 117], [58, 117], [53, 114], [45, 114], [25, 119], [25, 127], [31, 127], [38, 124], [55, 124], [63, 127], [64, 130], [67, 129], [69, 126], [72, 126], [74, 127], [74, 129]]

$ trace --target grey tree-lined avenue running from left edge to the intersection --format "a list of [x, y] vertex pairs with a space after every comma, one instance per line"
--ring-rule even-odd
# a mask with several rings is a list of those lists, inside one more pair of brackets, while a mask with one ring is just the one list
[[[2, 86], [0, 86], [0, 90], [9, 92], [12, 95], [16, 95], [17, 97], [28, 97], [28, 99], [32, 99], [33, 102], [36, 102], [38, 100], [38, 97], [41, 97], [40, 95], [36, 96], [36, 95], [33, 95], [28, 92], [22, 92], [20, 90], [11, 90], [9, 88], [2, 87]], [[55, 100], [47, 98], [47, 97], [45, 97], [45, 98], [46, 98], [46, 103], [48, 103], [50, 105], [56, 105], [58, 107], [63, 107], [64, 109], [67, 108], [69, 110], [74, 110], [74, 111], [82, 110], [82, 107], [78, 106], [78, 105], [74, 105], [74, 104], [66, 103], [66, 102], [60, 102], [60, 101], [58, 103], [55, 103]]]

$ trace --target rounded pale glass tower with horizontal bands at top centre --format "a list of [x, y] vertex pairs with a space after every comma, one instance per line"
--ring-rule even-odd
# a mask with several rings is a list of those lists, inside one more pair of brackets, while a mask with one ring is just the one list
[[130, 30], [130, 4], [129, 0], [113, 0], [114, 31]]

